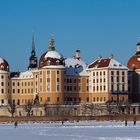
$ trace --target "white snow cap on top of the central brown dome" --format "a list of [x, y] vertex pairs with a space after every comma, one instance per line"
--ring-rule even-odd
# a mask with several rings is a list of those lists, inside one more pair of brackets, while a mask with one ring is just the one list
[[56, 58], [56, 59], [62, 59], [63, 56], [57, 52], [57, 51], [48, 51], [45, 55], [45, 58], [50, 57], [50, 58]]

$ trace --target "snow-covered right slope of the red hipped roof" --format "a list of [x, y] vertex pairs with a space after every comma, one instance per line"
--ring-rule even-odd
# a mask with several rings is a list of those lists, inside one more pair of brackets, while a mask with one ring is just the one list
[[110, 60], [110, 64], [108, 66], [109, 68], [122, 68], [122, 69], [128, 69], [126, 66], [122, 65], [121, 63], [119, 63], [117, 60], [115, 59], [111, 59]]

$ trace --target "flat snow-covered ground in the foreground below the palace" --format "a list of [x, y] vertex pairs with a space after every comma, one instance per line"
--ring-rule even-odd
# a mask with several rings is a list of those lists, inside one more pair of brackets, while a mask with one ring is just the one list
[[0, 124], [0, 140], [140, 140], [140, 122]]

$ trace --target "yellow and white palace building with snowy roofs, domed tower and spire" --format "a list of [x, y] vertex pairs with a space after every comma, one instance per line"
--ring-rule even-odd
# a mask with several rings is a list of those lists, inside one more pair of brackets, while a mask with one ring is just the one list
[[99, 56], [89, 65], [80, 50], [64, 58], [53, 38], [38, 63], [33, 37], [27, 71], [10, 72], [8, 62], [0, 58], [0, 105], [26, 105], [36, 97], [42, 105], [128, 102], [128, 68], [113, 55]]

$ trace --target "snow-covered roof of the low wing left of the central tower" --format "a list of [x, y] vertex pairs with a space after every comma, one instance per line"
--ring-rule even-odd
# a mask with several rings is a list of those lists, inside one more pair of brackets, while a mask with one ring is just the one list
[[31, 71], [21, 72], [19, 77], [13, 77], [12, 79], [30, 79], [33, 78], [33, 73]]

